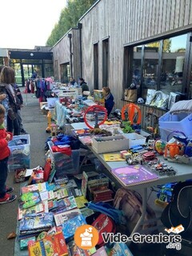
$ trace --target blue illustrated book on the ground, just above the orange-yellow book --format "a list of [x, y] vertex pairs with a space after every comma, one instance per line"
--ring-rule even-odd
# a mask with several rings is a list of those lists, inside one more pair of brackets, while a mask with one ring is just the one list
[[20, 221], [20, 234], [30, 230], [50, 229], [54, 221], [52, 213], [28, 214]]

